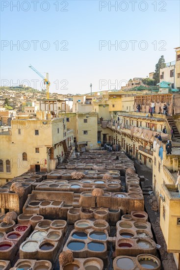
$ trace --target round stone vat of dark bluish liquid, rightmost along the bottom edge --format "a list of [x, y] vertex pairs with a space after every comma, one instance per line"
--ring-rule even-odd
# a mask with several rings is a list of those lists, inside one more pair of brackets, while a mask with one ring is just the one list
[[143, 269], [160, 269], [160, 262], [157, 258], [151, 255], [139, 255], [136, 258], [136, 261], [138, 262]]

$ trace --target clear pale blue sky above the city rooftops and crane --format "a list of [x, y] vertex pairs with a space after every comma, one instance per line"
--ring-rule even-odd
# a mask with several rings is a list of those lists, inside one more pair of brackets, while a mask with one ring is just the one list
[[[134, 10], [132, 1], [1, 0], [1, 85], [28, 80], [33, 87], [32, 80], [41, 78], [28, 68], [31, 63], [41, 73], [49, 72], [51, 92], [81, 94], [90, 91], [90, 83], [99, 91], [146, 77], [161, 55], [166, 62], [175, 60], [180, 2], [133, 2]], [[33, 40], [39, 41], [36, 50]], [[40, 82], [36, 85], [41, 89]]]

